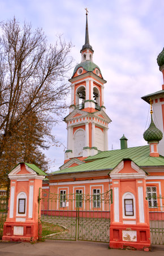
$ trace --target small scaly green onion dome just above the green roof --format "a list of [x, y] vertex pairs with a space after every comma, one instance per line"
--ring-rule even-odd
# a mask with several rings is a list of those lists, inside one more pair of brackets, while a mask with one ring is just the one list
[[160, 131], [156, 125], [154, 125], [153, 117], [151, 116], [151, 123], [149, 128], [144, 133], [144, 139], [147, 142], [161, 141], [163, 137], [162, 131]]

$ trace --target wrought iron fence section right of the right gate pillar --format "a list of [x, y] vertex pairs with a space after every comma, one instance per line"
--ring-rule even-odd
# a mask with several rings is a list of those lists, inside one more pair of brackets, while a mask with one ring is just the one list
[[164, 197], [147, 192], [150, 236], [153, 245], [164, 245]]

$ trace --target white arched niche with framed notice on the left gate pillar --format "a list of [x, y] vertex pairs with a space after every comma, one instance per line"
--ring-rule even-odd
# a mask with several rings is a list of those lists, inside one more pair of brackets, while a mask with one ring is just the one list
[[16, 216], [26, 216], [27, 213], [27, 195], [20, 192], [16, 199]]

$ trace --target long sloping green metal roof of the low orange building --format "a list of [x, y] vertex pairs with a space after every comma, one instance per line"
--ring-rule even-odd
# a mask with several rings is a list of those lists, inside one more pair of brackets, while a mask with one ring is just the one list
[[149, 145], [140, 147], [125, 148], [122, 150], [104, 151], [94, 156], [89, 156], [85, 161], [92, 161], [81, 164], [80, 166], [66, 168], [64, 170], [52, 172], [49, 175], [67, 174], [71, 172], [86, 172], [113, 170], [123, 159], [131, 159], [138, 166], [164, 166], [164, 157], [154, 158], [149, 156]]

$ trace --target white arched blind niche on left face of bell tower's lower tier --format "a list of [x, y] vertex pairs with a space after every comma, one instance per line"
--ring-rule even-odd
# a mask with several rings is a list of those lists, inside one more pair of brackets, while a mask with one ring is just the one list
[[83, 129], [79, 129], [75, 131], [74, 134], [74, 156], [82, 156], [83, 155], [83, 147], [85, 145], [85, 131]]

